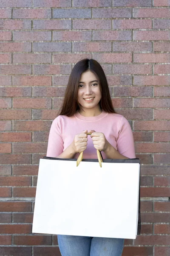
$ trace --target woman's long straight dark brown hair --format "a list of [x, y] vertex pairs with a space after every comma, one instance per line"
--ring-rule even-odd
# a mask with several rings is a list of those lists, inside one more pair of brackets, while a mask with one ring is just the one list
[[108, 82], [102, 67], [94, 59], [86, 58], [77, 62], [71, 71], [59, 115], [73, 116], [74, 113], [80, 109], [79, 103], [77, 102], [79, 81], [82, 73], [88, 70], [93, 72], [99, 78], [99, 85], [102, 95], [99, 102], [100, 108], [108, 113], [116, 113], [112, 105]]

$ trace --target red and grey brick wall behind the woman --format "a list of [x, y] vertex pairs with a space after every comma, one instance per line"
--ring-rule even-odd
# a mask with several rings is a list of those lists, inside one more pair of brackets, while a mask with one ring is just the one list
[[[73, 64], [94, 58], [142, 161], [142, 235], [123, 256], [170, 255], [170, 1], [0, 1], [0, 256], [59, 256], [33, 235], [45, 155]], [[169, 198], [169, 201], [168, 201]]]

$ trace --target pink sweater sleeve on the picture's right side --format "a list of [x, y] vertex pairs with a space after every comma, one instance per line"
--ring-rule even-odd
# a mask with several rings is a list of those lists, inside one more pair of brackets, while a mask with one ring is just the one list
[[127, 119], [122, 116], [119, 122], [117, 150], [120, 154], [128, 158], [135, 158], [135, 146], [133, 133]]

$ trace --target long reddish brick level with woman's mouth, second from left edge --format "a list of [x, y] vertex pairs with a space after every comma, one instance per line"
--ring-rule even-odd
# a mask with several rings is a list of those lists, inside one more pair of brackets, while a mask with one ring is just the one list
[[51, 108], [51, 99], [14, 98], [13, 108]]

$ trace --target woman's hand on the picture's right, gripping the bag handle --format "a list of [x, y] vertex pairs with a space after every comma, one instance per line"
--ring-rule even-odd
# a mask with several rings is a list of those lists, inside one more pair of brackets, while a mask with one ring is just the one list
[[89, 131], [91, 133], [91, 138], [93, 140], [94, 148], [99, 149], [99, 151], [105, 151], [108, 148], [108, 141], [102, 132], [95, 132], [94, 130]]

